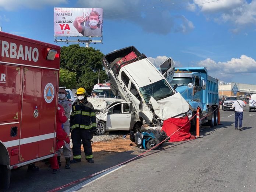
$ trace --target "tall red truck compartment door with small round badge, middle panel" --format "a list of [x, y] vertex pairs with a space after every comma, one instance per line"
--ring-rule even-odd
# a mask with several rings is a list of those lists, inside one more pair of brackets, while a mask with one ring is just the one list
[[24, 67], [19, 162], [38, 157], [42, 69]]

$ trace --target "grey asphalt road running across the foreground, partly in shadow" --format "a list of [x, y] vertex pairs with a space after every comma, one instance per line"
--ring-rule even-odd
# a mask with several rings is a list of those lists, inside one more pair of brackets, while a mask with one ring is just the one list
[[[79, 191], [256, 191], [256, 111], [243, 115], [243, 130], [234, 129], [234, 111], [221, 111], [221, 123], [205, 128], [203, 138], [175, 143], [147, 153], [101, 178], [91, 178]], [[106, 156], [94, 164], [75, 164], [70, 170], [49, 174], [13, 171], [9, 191], [48, 191], [112, 167], [144, 152], [138, 149]], [[82, 166], [81, 166], [82, 165]], [[95, 180], [93, 180], [95, 179]], [[83, 182], [86, 182], [83, 181]], [[88, 182], [88, 181], [87, 181]], [[79, 183], [78, 183], [79, 184]], [[72, 191], [71, 185], [61, 191]], [[69, 189], [70, 188], [70, 189]], [[77, 191], [77, 188], [75, 189]]]

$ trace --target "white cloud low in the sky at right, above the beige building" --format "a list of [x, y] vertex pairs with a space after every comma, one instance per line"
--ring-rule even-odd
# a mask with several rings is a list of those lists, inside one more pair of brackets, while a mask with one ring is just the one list
[[216, 62], [207, 58], [206, 60], [200, 61], [198, 66], [206, 67], [210, 75], [225, 81], [229, 81], [236, 75], [256, 72], [256, 61], [246, 55], [242, 55], [240, 58], [231, 58], [227, 62]]

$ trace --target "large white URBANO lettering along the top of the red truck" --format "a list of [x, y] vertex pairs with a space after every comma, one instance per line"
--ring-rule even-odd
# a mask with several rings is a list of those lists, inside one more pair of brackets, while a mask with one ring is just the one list
[[18, 45], [16, 43], [0, 41], [0, 53], [1, 57], [8, 58], [16, 58], [22, 60], [29, 60], [31, 58], [34, 62], [38, 61], [39, 51], [36, 47], [28, 47], [25, 45], [25, 53], [24, 53], [24, 45]]

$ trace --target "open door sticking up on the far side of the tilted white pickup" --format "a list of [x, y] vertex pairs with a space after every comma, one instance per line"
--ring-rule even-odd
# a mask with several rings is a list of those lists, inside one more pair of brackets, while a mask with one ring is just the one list
[[173, 59], [171, 57], [161, 63], [159, 65], [159, 69], [168, 82], [171, 82], [173, 80], [175, 68]]

